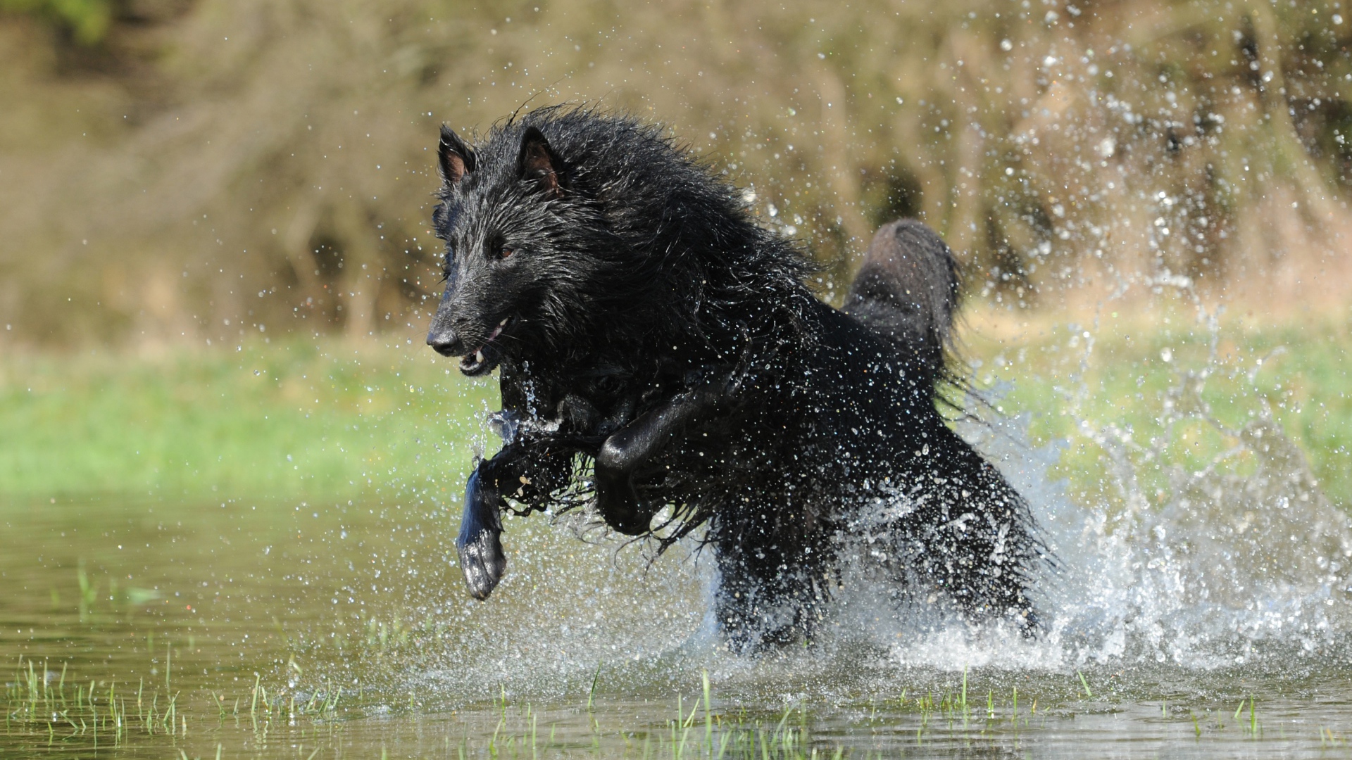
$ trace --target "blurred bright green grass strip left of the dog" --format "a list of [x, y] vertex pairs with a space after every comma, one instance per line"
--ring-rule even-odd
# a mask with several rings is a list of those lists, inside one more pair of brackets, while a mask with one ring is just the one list
[[441, 488], [464, 477], [495, 398], [407, 345], [15, 356], [0, 362], [0, 495]]

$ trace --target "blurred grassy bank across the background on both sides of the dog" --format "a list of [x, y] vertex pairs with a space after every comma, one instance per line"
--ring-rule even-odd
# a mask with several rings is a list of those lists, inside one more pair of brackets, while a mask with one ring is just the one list
[[[1156, 490], [1172, 464], [1197, 469], [1232, 446], [1190, 417], [1183, 391], [1201, 381], [1199, 398], [1230, 429], [1267, 404], [1325, 492], [1352, 503], [1345, 319], [1237, 319], [1213, 341], [1187, 314], [1105, 314], [1096, 326], [1019, 314], [973, 315], [967, 354], [980, 384], [1003, 389], [1006, 414], [1032, 415], [1034, 445], [1068, 444], [1059, 469], [1076, 491], [1106, 490], [1105, 435], [1146, 480], [1157, 476]], [[469, 381], [402, 339], [9, 356], [0, 360], [0, 498], [453, 492], [476, 446], [492, 444], [480, 419], [495, 402], [493, 383]]]

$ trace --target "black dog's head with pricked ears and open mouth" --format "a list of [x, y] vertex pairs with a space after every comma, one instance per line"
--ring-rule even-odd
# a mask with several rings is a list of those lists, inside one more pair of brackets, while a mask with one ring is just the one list
[[[544, 123], [549, 128], [549, 123]], [[585, 320], [595, 256], [595, 211], [573, 192], [572, 168], [530, 123], [508, 123], [470, 146], [441, 128], [441, 203], [446, 291], [427, 343], [458, 356], [465, 375], [491, 372], [510, 354], [568, 346]]]

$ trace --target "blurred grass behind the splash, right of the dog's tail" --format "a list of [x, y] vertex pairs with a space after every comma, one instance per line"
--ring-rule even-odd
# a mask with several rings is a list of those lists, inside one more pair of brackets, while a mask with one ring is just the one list
[[969, 337], [977, 383], [1029, 414], [1033, 445], [1065, 445], [1056, 475], [1072, 495], [1118, 499], [1109, 449], [1130, 461], [1141, 492], [1169, 498], [1169, 476], [1228, 456], [1236, 475], [1260, 468], [1253, 434], [1270, 419], [1295, 444], [1318, 487], [1352, 504], [1352, 323], [1257, 327], [1190, 316], [1056, 323], [996, 341]]

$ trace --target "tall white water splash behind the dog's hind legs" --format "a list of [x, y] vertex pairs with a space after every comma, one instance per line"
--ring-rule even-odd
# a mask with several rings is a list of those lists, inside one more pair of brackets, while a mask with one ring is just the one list
[[[1251, 398], [1241, 426], [1218, 418], [1203, 399], [1215, 371], [1214, 352], [1205, 366], [1176, 371], [1160, 410], [1165, 433], [1145, 444], [1117, 422], [1082, 421], [1079, 433], [1103, 452], [1118, 496], [1101, 503], [1075, 503], [1064, 483], [1049, 479], [1068, 444], [1026, 446], [1026, 417], [969, 426], [1029, 498], [1059, 567], [1034, 583], [1048, 625], [1042, 641], [996, 644], [984, 657], [980, 648], [963, 650], [960, 659], [1220, 668], [1348, 649], [1352, 521], [1324, 496], [1267, 399]], [[1202, 467], [1171, 461], [1184, 421], [1228, 448]], [[1167, 485], [1149, 492], [1146, 475], [1163, 475]], [[930, 650], [899, 656], [956, 661], [917, 655]]]

